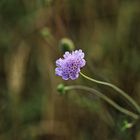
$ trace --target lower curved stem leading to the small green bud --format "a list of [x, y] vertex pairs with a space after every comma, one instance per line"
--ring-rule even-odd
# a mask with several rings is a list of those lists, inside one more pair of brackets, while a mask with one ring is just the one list
[[101, 99], [103, 99], [104, 101], [106, 101], [107, 103], [109, 103], [111, 106], [113, 106], [114, 108], [116, 108], [117, 110], [119, 110], [120, 112], [124, 113], [125, 115], [128, 115], [134, 119], [138, 119], [139, 116], [127, 109], [124, 109], [123, 107], [119, 106], [118, 104], [116, 104], [114, 101], [112, 101], [110, 98], [108, 98], [106, 95], [102, 94], [101, 92], [93, 89], [93, 88], [89, 88], [89, 87], [85, 87], [85, 86], [81, 86], [81, 85], [74, 85], [74, 86], [66, 86], [65, 90], [73, 90], [73, 89], [80, 89], [80, 90], [85, 90], [85, 91], [89, 91], [91, 93], [94, 93], [96, 96], [100, 97]]

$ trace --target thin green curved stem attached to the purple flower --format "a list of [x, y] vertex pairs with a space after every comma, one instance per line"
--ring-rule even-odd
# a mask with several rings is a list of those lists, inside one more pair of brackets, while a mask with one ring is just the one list
[[114, 90], [116, 90], [117, 92], [119, 92], [123, 97], [125, 97], [136, 108], [136, 110], [140, 113], [140, 106], [136, 103], [136, 101], [134, 101], [127, 93], [125, 93], [123, 90], [121, 90], [117, 86], [115, 86], [115, 85], [113, 85], [111, 83], [108, 83], [108, 82], [103, 82], [103, 81], [95, 80], [93, 78], [90, 78], [90, 77], [84, 75], [81, 72], [80, 72], [80, 74], [84, 78], [86, 78], [86, 79], [88, 79], [88, 80], [90, 80], [92, 82], [95, 82], [95, 83], [101, 84], [101, 85], [106, 85], [106, 86], [109, 86], [109, 87], [113, 88]]

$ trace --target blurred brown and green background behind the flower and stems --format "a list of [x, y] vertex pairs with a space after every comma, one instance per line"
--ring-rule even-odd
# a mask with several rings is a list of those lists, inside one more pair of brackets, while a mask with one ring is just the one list
[[69, 38], [85, 52], [90, 77], [116, 84], [140, 104], [139, 0], [0, 0], [0, 140], [140, 140], [140, 122], [83, 91], [59, 95], [57, 85], [85, 85], [119, 105], [110, 88], [54, 73]]

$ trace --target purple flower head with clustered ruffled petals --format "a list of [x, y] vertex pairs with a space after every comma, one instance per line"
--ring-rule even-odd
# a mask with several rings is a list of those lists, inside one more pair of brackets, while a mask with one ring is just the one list
[[56, 75], [61, 76], [64, 80], [77, 79], [80, 69], [86, 64], [84, 53], [82, 50], [72, 51], [71, 53], [65, 52], [63, 57], [56, 60]]

